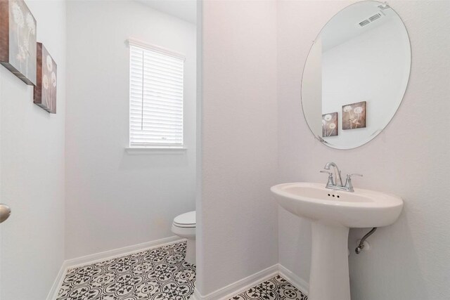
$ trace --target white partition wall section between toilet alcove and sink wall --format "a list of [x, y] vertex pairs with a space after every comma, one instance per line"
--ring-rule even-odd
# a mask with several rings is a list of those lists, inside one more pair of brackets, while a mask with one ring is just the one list
[[275, 26], [275, 1], [203, 3], [203, 296], [278, 261]]

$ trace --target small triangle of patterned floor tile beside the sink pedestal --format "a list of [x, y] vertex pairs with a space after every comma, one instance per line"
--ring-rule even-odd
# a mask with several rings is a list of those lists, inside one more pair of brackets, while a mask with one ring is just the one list
[[307, 296], [293, 287], [281, 275], [276, 275], [229, 300], [307, 300]]

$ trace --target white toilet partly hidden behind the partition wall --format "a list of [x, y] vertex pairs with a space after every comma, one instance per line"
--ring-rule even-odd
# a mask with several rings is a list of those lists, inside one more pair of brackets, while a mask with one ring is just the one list
[[176, 216], [172, 223], [172, 233], [188, 239], [186, 261], [195, 265], [195, 211]]

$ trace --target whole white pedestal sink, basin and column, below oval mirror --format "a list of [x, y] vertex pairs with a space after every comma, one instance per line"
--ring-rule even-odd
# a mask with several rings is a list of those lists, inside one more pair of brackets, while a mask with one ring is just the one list
[[395, 195], [355, 188], [330, 190], [323, 183], [283, 183], [271, 187], [278, 204], [311, 220], [312, 247], [308, 300], [350, 300], [349, 228], [394, 223], [403, 207]]

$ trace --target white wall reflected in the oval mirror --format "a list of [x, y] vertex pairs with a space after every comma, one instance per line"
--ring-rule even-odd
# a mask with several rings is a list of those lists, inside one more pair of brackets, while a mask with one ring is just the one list
[[[358, 146], [397, 111], [409, 79], [411, 51], [404, 25], [395, 17], [322, 54], [322, 114], [338, 112], [339, 135], [324, 138], [328, 143]], [[366, 127], [342, 130], [342, 118], [348, 117], [342, 106], [361, 101], [366, 101]]]

